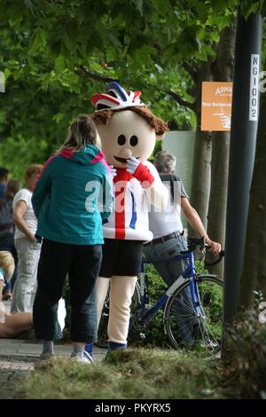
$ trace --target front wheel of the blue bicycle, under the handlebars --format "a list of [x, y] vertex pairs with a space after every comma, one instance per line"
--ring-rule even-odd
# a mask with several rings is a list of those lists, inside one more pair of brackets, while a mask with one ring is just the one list
[[223, 281], [214, 275], [196, 278], [202, 313], [192, 306], [190, 281], [171, 295], [165, 307], [165, 329], [175, 349], [211, 356], [221, 350]]

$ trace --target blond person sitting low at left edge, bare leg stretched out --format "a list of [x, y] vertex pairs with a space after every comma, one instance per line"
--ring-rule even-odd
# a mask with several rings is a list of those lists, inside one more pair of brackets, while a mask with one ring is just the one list
[[32, 313], [13, 313], [5, 311], [1, 303], [4, 282], [13, 275], [14, 259], [8, 251], [0, 251], [0, 338], [12, 338], [30, 329], [33, 325]]

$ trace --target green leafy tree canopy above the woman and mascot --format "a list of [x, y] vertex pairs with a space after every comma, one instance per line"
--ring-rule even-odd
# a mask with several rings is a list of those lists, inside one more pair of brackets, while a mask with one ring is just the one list
[[215, 55], [235, 0], [0, 0], [0, 163], [21, 176], [59, 146], [90, 96], [117, 80], [143, 90], [154, 113], [194, 125], [193, 81], [184, 67]]

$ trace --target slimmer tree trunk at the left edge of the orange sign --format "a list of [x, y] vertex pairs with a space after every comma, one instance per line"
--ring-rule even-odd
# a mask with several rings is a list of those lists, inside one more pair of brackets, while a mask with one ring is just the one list
[[[210, 188], [210, 161], [211, 161], [211, 132], [200, 130], [201, 119], [201, 83], [203, 81], [211, 81], [211, 65], [212, 62], [203, 62], [197, 72], [196, 84], [196, 116], [197, 116], [197, 130], [194, 146], [194, 159], [192, 170], [192, 191], [190, 201], [192, 207], [199, 213], [200, 219], [204, 225], [207, 226], [207, 207]], [[192, 236], [194, 232], [189, 226], [189, 235]]]

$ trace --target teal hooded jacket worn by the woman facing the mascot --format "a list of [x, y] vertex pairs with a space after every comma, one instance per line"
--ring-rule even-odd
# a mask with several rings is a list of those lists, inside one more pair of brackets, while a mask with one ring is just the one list
[[113, 210], [110, 169], [96, 146], [64, 149], [44, 165], [32, 197], [35, 235], [73, 245], [104, 243], [102, 223]]

